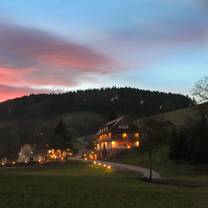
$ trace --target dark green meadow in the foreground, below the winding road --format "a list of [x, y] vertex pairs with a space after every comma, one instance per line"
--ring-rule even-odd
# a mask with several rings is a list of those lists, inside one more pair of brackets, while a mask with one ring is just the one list
[[208, 188], [149, 184], [128, 172], [72, 163], [0, 169], [1, 208], [207, 208]]

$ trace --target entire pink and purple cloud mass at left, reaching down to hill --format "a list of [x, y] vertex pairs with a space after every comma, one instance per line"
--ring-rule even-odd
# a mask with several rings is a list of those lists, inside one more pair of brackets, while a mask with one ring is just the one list
[[[0, 22], [0, 100], [76, 87], [90, 73], [111, 73], [117, 63], [84, 45], [46, 31]], [[90, 77], [89, 77], [90, 81]]]

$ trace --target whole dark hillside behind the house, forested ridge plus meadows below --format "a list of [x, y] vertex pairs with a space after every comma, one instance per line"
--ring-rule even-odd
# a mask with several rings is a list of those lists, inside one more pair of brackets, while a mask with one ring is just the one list
[[25, 143], [46, 144], [60, 119], [66, 123], [69, 137], [87, 138], [112, 116], [127, 114], [138, 119], [190, 105], [192, 100], [180, 94], [134, 88], [90, 89], [9, 100], [0, 103], [0, 157], [15, 157]]

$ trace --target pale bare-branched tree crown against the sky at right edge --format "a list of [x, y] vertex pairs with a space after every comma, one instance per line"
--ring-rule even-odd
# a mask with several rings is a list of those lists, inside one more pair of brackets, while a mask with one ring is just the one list
[[195, 83], [193, 95], [196, 96], [200, 102], [208, 101], [208, 76], [204, 76]]

